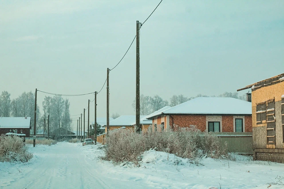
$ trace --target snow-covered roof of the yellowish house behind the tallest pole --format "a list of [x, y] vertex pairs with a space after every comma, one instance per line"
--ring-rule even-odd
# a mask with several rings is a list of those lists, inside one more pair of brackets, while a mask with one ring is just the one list
[[[147, 115], [140, 115], [140, 124], [152, 124], [152, 121], [146, 120]], [[136, 115], [122, 115], [112, 121], [110, 126], [132, 126], [136, 124]], [[106, 127], [106, 124], [103, 126]]]

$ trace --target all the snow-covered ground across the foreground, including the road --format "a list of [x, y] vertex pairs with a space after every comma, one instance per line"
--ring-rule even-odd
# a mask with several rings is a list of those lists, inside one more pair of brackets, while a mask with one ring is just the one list
[[[98, 145], [97, 145], [98, 146]], [[97, 146], [61, 142], [30, 148], [29, 163], [0, 163], [0, 188], [263, 188], [284, 177], [284, 164], [205, 158], [202, 165], [147, 151], [140, 167], [98, 160]], [[284, 180], [282, 180], [284, 183]], [[221, 187], [220, 187], [221, 186]], [[281, 188], [271, 185], [269, 188]]]

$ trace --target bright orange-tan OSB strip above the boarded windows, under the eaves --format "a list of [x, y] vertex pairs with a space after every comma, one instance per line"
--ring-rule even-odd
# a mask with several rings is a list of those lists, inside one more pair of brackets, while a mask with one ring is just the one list
[[284, 82], [261, 87], [255, 91], [252, 91], [252, 106], [256, 106], [256, 103], [261, 103], [273, 98], [275, 98], [275, 102], [280, 101], [283, 94]]

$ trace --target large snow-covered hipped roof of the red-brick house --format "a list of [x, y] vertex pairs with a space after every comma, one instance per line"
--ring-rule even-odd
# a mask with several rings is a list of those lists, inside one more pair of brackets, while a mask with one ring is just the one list
[[151, 114], [147, 119], [161, 114], [251, 115], [252, 103], [228, 97], [198, 97], [156, 114]]

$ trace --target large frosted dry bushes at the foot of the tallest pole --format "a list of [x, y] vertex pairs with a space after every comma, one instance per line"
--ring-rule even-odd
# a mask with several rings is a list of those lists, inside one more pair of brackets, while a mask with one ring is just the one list
[[195, 162], [204, 156], [219, 158], [228, 154], [227, 148], [221, 147], [213, 133], [201, 132], [195, 126], [182, 128], [175, 125], [173, 131], [167, 132], [138, 134], [126, 130], [120, 138], [117, 138], [116, 132], [110, 132], [103, 147], [105, 155], [102, 159], [114, 163], [129, 161], [139, 165], [143, 152], [150, 149]]

